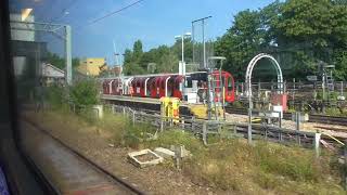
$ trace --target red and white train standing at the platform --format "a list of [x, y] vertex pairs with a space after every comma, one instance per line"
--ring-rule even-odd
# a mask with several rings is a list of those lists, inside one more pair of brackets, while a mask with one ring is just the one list
[[[228, 72], [215, 70], [214, 80], [216, 102], [232, 103], [235, 100], [234, 78]], [[207, 72], [178, 74], [138, 75], [103, 79], [104, 95], [127, 95], [160, 99], [178, 98], [188, 103], [202, 103], [206, 100]], [[221, 80], [220, 80], [221, 79]], [[221, 99], [223, 98], [223, 99]]]

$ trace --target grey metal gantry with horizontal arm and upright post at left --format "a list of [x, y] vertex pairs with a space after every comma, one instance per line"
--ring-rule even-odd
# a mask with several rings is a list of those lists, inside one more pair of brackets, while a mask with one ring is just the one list
[[[64, 24], [52, 24], [52, 23], [38, 23], [38, 22], [21, 22], [21, 21], [11, 21], [12, 30], [30, 30], [30, 31], [47, 31], [51, 32], [53, 36], [64, 40], [64, 53], [65, 53], [65, 80], [67, 84], [73, 82], [72, 74], [72, 27]], [[15, 25], [16, 24], [16, 25]], [[64, 29], [63, 34], [60, 34], [59, 30]]]

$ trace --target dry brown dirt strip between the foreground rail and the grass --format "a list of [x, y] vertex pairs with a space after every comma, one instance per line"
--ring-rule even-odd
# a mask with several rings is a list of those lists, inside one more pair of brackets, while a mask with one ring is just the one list
[[193, 183], [182, 172], [164, 165], [143, 169], [137, 168], [127, 160], [127, 154], [134, 150], [114, 147], [110, 143], [110, 133], [98, 131], [95, 128], [70, 131], [60, 128], [59, 123], [55, 127], [54, 129], [48, 129], [54, 136], [145, 193], [233, 194], [232, 192], [217, 192], [208, 186]]

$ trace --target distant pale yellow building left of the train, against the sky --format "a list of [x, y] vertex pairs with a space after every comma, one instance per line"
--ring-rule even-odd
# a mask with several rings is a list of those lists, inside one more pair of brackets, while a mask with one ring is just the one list
[[107, 65], [105, 58], [87, 57], [79, 62], [77, 70], [87, 76], [99, 76], [101, 72], [106, 70]]

